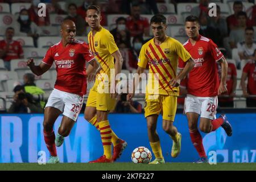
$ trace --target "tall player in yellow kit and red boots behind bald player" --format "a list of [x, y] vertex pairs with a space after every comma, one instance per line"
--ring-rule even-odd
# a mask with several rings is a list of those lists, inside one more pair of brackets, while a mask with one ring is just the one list
[[[101, 71], [97, 74], [93, 88], [90, 89], [84, 117], [100, 131], [104, 148], [104, 155], [90, 163], [108, 163], [119, 158], [127, 146], [124, 140], [115, 135], [108, 121], [108, 113], [113, 110], [116, 96], [115, 90], [110, 90], [110, 84], [114, 84], [111, 88], [115, 88], [116, 84], [115, 81], [110, 80], [112, 78], [110, 72], [114, 71], [115, 78], [115, 75], [121, 72], [123, 59], [114, 42], [113, 35], [100, 25], [100, 7], [89, 6], [85, 19], [91, 28], [88, 34], [89, 48], [100, 63]], [[114, 146], [113, 156], [112, 143]]]

